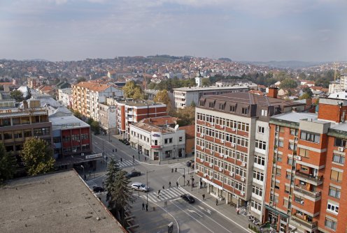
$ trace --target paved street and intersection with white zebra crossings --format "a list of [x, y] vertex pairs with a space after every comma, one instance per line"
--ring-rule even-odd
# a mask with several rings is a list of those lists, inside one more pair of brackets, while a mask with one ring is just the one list
[[[180, 158], [180, 160], [167, 160], [159, 164], [156, 161], [148, 161], [143, 155], [131, 149], [111, 137], [93, 135], [93, 150], [96, 153], [106, 151], [109, 158], [115, 158], [120, 162], [120, 167], [129, 172], [133, 169], [142, 173], [131, 179], [132, 182], [147, 183], [150, 192], [142, 193], [134, 191], [136, 197], [130, 210], [134, 215], [134, 223], [139, 227], [134, 228], [134, 232], [167, 232], [167, 224], [174, 223], [174, 232], [248, 232], [248, 220], [244, 216], [237, 216], [236, 211], [229, 205], [221, 203], [215, 206], [215, 198], [206, 193], [206, 188], [191, 188], [184, 186], [183, 174], [185, 177], [192, 175], [192, 168], [187, 167], [186, 161], [192, 158]], [[115, 152], [117, 149], [117, 152]], [[113, 151], [114, 150], [114, 151]], [[132, 156], [134, 155], [134, 163]], [[175, 169], [177, 171], [175, 172]], [[174, 170], [172, 170], [174, 169]], [[148, 174], [147, 174], [148, 172]], [[86, 172], [87, 173], [87, 172]], [[98, 168], [92, 174], [87, 174], [87, 185], [91, 188], [102, 186], [106, 178], [106, 165], [98, 163]], [[193, 172], [194, 175], [194, 172]], [[196, 181], [198, 180], [195, 177]], [[176, 187], [176, 181], [179, 187]], [[186, 181], [186, 179], [185, 179]], [[171, 182], [171, 188], [169, 188]], [[164, 186], [164, 189], [163, 189]], [[160, 190], [160, 197], [157, 192]], [[195, 197], [194, 204], [187, 204], [181, 200], [180, 195], [190, 193]], [[201, 200], [202, 193], [205, 193], [206, 200]], [[147, 202], [148, 212], [142, 210], [142, 203]], [[104, 195], [101, 195], [101, 200]], [[155, 207], [155, 209], [153, 209]], [[146, 212], [146, 213], [145, 213]]]

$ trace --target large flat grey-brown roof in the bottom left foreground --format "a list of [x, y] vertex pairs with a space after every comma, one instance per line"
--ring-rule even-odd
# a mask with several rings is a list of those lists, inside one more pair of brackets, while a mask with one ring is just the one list
[[0, 232], [126, 232], [74, 170], [0, 189]]

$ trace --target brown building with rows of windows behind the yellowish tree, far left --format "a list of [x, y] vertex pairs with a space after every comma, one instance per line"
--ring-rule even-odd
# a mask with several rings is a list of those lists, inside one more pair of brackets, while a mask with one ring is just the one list
[[6, 151], [15, 153], [19, 163], [19, 152], [29, 137], [39, 137], [52, 144], [52, 123], [48, 119], [48, 110], [40, 107], [40, 101], [23, 101], [23, 108], [1, 108], [0, 142]]

